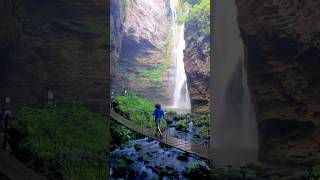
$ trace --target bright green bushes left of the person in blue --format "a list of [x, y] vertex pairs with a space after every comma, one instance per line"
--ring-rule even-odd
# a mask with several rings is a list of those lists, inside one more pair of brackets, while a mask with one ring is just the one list
[[[154, 104], [142, 97], [134, 94], [115, 97], [115, 110], [139, 125], [147, 128], [155, 128], [154, 117], [151, 113], [154, 111]], [[165, 127], [165, 121], [161, 120], [161, 127]]]

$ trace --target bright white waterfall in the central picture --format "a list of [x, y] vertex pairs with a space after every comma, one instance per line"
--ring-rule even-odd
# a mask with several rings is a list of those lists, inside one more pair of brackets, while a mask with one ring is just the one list
[[176, 5], [178, 0], [170, 0], [172, 12], [172, 38], [173, 48], [171, 51], [172, 62], [175, 67], [174, 93], [171, 108], [177, 111], [186, 112], [191, 109], [190, 97], [188, 92], [187, 76], [184, 69], [183, 50], [185, 49], [184, 24], [176, 23]]

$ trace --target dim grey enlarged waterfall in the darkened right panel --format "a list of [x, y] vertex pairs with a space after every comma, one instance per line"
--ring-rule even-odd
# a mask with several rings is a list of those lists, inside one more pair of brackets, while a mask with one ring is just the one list
[[247, 84], [244, 46], [234, 0], [214, 4], [212, 159], [217, 164], [257, 160], [258, 133]]

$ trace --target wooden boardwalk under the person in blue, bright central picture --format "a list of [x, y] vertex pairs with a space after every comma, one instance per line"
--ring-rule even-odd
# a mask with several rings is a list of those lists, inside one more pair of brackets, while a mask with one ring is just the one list
[[190, 141], [185, 141], [180, 138], [172, 137], [172, 136], [169, 136], [165, 133], [163, 134], [162, 138], [156, 137], [155, 130], [140, 126], [132, 121], [129, 121], [126, 118], [122, 117], [121, 115], [117, 114], [112, 109], [110, 109], [110, 115], [114, 120], [116, 120], [120, 124], [128, 127], [129, 129], [132, 129], [133, 131], [135, 131], [139, 134], [147, 136], [151, 139], [155, 139], [163, 144], [180, 149], [180, 150], [188, 152], [190, 154], [194, 154], [194, 155], [200, 156], [202, 158], [209, 159], [208, 148], [206, 148], [204, 146], [192, 143]]

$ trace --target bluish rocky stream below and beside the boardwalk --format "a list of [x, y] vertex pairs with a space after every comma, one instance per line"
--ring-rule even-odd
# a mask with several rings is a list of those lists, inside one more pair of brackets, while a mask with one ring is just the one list
[[[209, 139], [201, 137], [200, 128], [193, 128], [192, 118], [187, 118], [187, 131], [176, 130], [176, 122], [171, 119], [164, 133], [208, 144]], [[187, 179], [185, 173], [192, 163], [209, 169], [206, 160], [149, 138], [130, 140], [123, 147], [118, 145], [110, 154], [110, 162], [110, 179]]]

